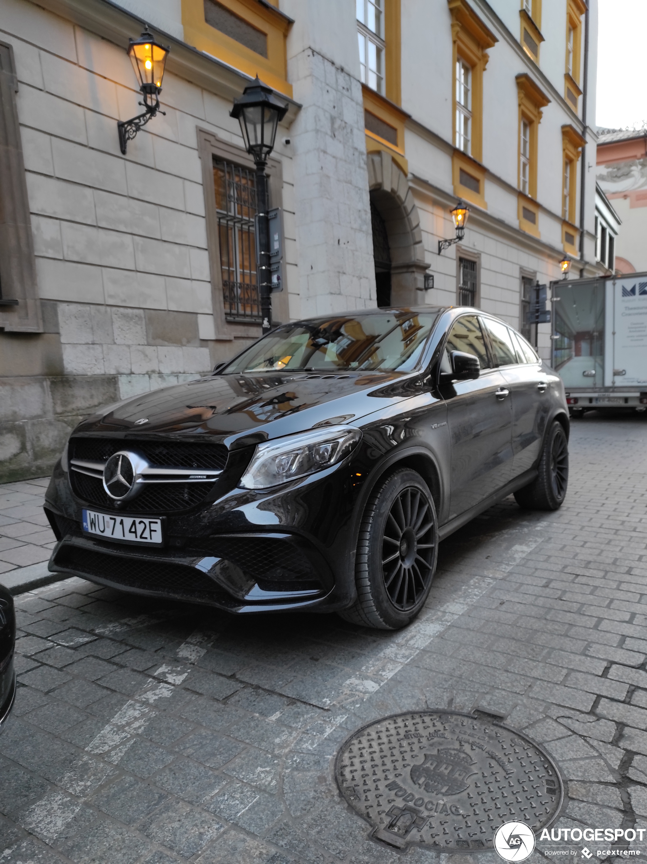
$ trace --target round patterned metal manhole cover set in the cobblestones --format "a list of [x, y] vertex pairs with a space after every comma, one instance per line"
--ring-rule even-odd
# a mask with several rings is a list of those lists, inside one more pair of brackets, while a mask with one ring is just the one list
[[336, 780], [376, 839], [453, 853], [493, 848], [504, 822], [544, 828], [563, 796], [557, 768], [539, 746], [451, 711], [399, 714], [363, 727], [338, 753]]

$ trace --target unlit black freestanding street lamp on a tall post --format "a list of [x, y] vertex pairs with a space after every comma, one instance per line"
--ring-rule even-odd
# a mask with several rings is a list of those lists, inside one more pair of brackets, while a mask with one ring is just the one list
[[279, 122], [285, 117], [288, 106], [281, 101], [272, 87], [268, 87], [256, 76], [240, 98], [234, 99], [230, 117], [240, 122], [245, 149], [256, 166], [256, 207], [258, 224], [260, 315], [263, 333], [272, 329], [272, 300], [270, 275], [270, 236], [267, 221], [269, 200], [267, 195], [267, 158], [274, 149], [274, 140]]

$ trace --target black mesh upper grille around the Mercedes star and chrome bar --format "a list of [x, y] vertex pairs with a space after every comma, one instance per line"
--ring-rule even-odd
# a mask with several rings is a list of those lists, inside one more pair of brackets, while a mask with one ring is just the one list
[[[106, 462], [119, 450], [132, 450], [144, 456], [151, 466], [195, 468], [196, 471], [221, 471], [227, 462], [227, 448], [222, 444], [202, 442], [157, 442], [123, 438], [72, 438], [70, 459]], [[109, 510], [118, 505], [110, 498], [103, 482], [96, 477], [72, 470], [70, 480], [74, 493], [84, 501]], [[126, 505], [134, 513], [168, 513], [189, 510], [202, 503], [213, 489], [212, 483], [151, 483], [137, 498]]]

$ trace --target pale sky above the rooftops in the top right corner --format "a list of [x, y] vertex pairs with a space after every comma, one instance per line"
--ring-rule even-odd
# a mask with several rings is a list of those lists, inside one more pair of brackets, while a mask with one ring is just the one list
[[598, 0], [598, 9], [596, 124], [605, 129], [642, 129], [647, 124], [643, 78], [647, 0]]

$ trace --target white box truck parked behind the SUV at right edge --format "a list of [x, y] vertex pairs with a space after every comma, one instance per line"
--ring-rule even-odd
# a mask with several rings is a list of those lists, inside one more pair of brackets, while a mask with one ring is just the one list
[[647, 410], [647, 273], [553, 283], [553, 366], [574, 416]]

